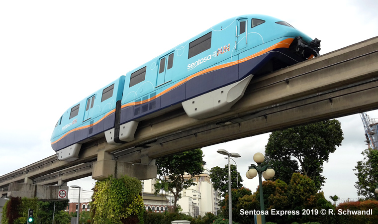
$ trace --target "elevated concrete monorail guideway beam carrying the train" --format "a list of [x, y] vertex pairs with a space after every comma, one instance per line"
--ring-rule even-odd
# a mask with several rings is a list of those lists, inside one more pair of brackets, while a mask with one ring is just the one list
[[141, 121], [132, 142], [114, 146], [100, 138], [83, 144], [74, 162], [59, 161], [54, 155], [3, 175], [0, 191], [6, 192], [12, 182], [56, 184], [90, 175], [101, 179], [111, 170], [104, 171], [100, 163], [147, 166], [183, 150], [375, 110], [377, 79], [378, 37], [254, 77], [229, 112], [196, 120], [178, 109]]

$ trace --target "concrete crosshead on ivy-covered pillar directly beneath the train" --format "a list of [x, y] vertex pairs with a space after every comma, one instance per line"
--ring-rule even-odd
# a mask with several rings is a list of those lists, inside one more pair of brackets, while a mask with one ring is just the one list
[[115, 178], [121, 176], [135, 177], [139, 180], [156, 178], [158, 167], [140, 163], [127, 163], [115, 160], [100, 160], [93, 163], [92, 178], [103, 180], [112, 175]]

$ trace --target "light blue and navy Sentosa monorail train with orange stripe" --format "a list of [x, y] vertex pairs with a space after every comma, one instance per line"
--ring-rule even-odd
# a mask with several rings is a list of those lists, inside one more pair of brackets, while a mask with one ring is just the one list
[[183, 107], [203, 119], [230, 110], [253, 76], [319, 55], [320, 41], [266, 15], [227, 19], [117, 78], [70, 107], [51, 136], [58, 158], [79, 158], [82, 143], [134, 140], [146, 115]]

